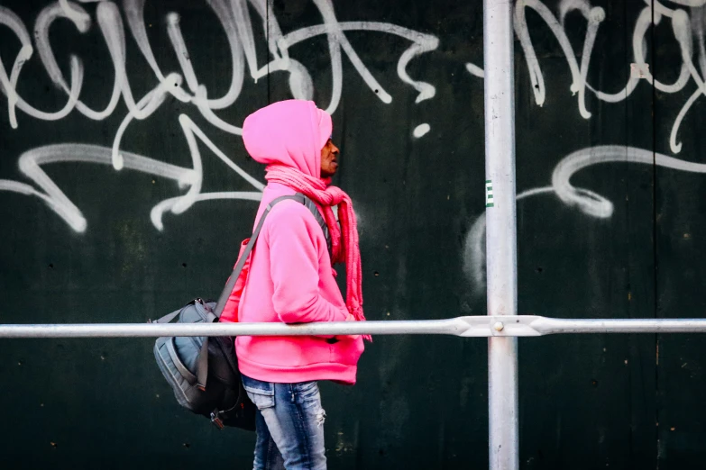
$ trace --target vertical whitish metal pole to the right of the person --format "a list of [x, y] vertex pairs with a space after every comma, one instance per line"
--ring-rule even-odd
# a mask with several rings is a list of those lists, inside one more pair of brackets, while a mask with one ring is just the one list
[[[483, 0], [488, 314], [517, 315], [512, 5]], [[502, 325], [496, 325], [502, 329]], [[518, 470], [518, 339], [488, 339], [491, 470]]]

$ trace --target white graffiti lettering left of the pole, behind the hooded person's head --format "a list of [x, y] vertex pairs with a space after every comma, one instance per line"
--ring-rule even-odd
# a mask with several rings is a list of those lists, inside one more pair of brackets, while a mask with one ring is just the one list
[[[87, 3], [84, 0], [84, 3]], [[96, 147], [81, 143], [66, 143], [52, 145], [25, 152], [19, 160], [20, 170], [29, 177], [37, 187], [12, 180], [0, 180], [0, 191], [10, 191], [19, 194], [36, 196], [46, 203], [51, 210], [56, 212], [69, 226], [76, 231], [87, 229], [87, 221], [78, 207], [55, 185], [49, 176], [41, 169], [41, 165], [55, 162], [86, 162], [97, 164], [111, 164], [116, 170], [124, 167], [143, 173], [162, 176], [175, 180], [181, 188], [187, 188], [186, 194], [170, 198], [158, 203], [151, 210], [151, 221], [158, 230], [163, 229], [162, 214], [172, 212], [179, 214], [188, 210], [198, 201], [214, 199], [243, 199], [259, 200], [263, 185], [242, 168], [225, 156], [212, 140], [206, 137], [204, 131], [184, 113], [180, 114], [179, 125], [188, 142], [188, 149], [192, 159], [191, 168], [175, 167], [151, 158], [121, 150], [121, 143], [125, 131], [134, 121], [142, 121], [155, 113], [165, 99], [171, 95], [184, 104], [192, 104], [198, 113], [220, 131], [234, 135], [241, 135], [240, 127], [219, 118], [215, 111], [223, 110], [235, 104], [241, 93], [244, 81], [245, 68], [250, 73], [252, 80], [266, 77], [277, 71], [289, 73], [289, 88], [296, 98], [311, 99], [313, 96], [313, 81], [310, 74], [298, 60], [289, 56], [289, 48], [301, 41], [307, 41], [316, 36], [325, 35], [331, 59], [332, 95], [325, 111], [334, 113], [340, 103], [343, 89], [343, 57], [351, 61], [353, 68], [360, 74], [364, 83], [370, 87], [373, 95], [378, 96], [382, 103], [389, 104], [392, 97], [385, 88], [372, 76], [365, 67], [358, 53], [347, 40], [345, 32], [381, 32], [399, 36], [411, 42], [411, 45], [399, 57], [397, 73], [404, 83], [417, 90], [417, 103], [432, 98], [436, 94], [434, 86], [409, 77], [408, 63], [425, 52], [435, 50], [438, 40], [435, 36], [408, 30], [390, 23], [377, 22], [338, 22], [335, 17], [331, 0], [314, 0], [314, 4], [321, 14], [323, 23], [316, 26], [301, 28], [293, 32], [281, 32], [280, 25], [273, 15], [267, 14], [266, 0], [210, 0], [207, 2], [215, 13], [220, 23], [230, 48], [232, 61], [232, 75], [228, 91], [220, 97], [209, 97], [206, 86], [198, 80], [197, 70], [194, 68], [189, 52], [179, 26], [179, 14], [170, 13], [166, 16], [166, 27], [171, 46], [179, 60], [180, 73], [165, 74], [161, 69], [147, 36], [147, 27], [144, 21], [145, 0], [124, 0], [124, 18], [127, 29], [132, 34], [138, 49], [150, 66], [156, 83], [149, 93], [136, 99], [130, 86], [126, 71], [126, 29], [123, 15], [117, 5], [112, 2], [99, 2], [96, 5], [96, 23], [103, 36], [105, 47], [113, 65], [113, 90], [102, 110], [89, 107], [81, 100], [83, 86], [84, 65], [83, 61], [75, 55], [69, 58], [69, 79], [64, 77], [57, 59], [51, 49], [50, 27], [57, 21], [73, 23], [79, 34], [86, 34], [93, 19], [87, 10], [77, 3], [69, 0], [60, 0], [41, 10], [37, 16], [34, 32], [31, 36], [23, 21], [12, 10], [0, 6], [0, 24], [9, 28], [20, 41], [21, 48], [14, 59], [14, 65], [8, 76], [3, 60], [0, 60], [0, 91], [7, 98], [7, 113], [13, 129], [19, 127], [17, 111], [21, 111], [34, 119], [43, 121], [58, 121], [76, 110], [88, 119], [101, 121], [115, 113], [121, 98], [127, 107], [127, 114], [123, 122], [115, 131], [115, 138], [110, 148]], [[252, 5], [260, 19], [265, 23], [268, 32], [268, 49], [272, 59], [269, 63], [259, 65], [255, 53], [255, 36], [252, 30], [252, 18], [249, 4]], [[32, 44], [32, 37], [34, 42]], [[21, 80], [23, 66], [36, 56], [50, 77], [51, 82], [66, 95], [66, 104], [56, 112], [47, 112], [29, 104], [17, 92], [17, 85]], [[428, 123], [417, 125], [413, 132], [415, 138], [420, 138], [430, 131]], [[199, 154], [197, 139], [201, 140], [211, 149], [216, 157], [220, 158], [242, 176], [255, 191], [250, 192], [224, 192], [202, 193], [203, 171], [202, 160]], [[38, 189], [39, 188], [39, 189]]]

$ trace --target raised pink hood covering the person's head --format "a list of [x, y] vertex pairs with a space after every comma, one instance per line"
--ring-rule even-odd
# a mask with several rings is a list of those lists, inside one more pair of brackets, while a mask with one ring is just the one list
[[280, 101], [245, 119], [243, 142], [255, 161], [280, 163], [319, 177], [321, 149], [332, 130], [331, 116], [313, 101]]

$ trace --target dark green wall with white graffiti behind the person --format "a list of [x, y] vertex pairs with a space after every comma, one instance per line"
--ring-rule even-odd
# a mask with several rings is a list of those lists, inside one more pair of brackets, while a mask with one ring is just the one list
[[[516, 22], [515, 68], [517, 187], [525, 193], [518, 202], [521, 313], [704, 316], [706, 185], [699, 173], [706, 172], [706, 113], [698, 90], [706, 76], [706, 9], [663, 3], [654, 12], [640, 0], [517, 6], [516, 19], [526, 22]], [[143, 11], [140, 4], [80, 4], [85, 14], [71, 4], [69, 16], [84, 22], [83, 32], [60, 17], [42, 41], [42, 17], [50, 12], [41, 12], [50, 4], [3, 0], [0, 18], [26, 30], [0, 26], [6, 75], [21, 64], [17, 94], [36, 110], [58, 113], [69, 98], [41, 55], [53, 54], [67, 86], [73, 55], [83, 70], [78, 99], [105, 109], [116, 76], [105, 31], [114, 50], [124, 35], [124, 77], [139, 101], [160, 84], [146, 45], [164, 76], [185, 76], [168, 34], [168, 15], [177, 13], [188, 48], [182, 61], [197, 85], [217, 99], [234, 84], [232, 99], [206, 105], [222, 122], [237, 126], [293, 94], [323, 108], [336, 102], [343, 167], [335, 183], [359, 214], [370, 320], [485, 313], [483, 82], [467, 68], [482, 66], [480, 1], [365, 0], [332, 9], [325, 0], [152, 0]], [[55, 5], [54, 14], [66, 16]], [[143, 37], [128, 18], [144, 22]], [[325, 35], [307, 35], [322, 24], [333, 54]], [[279, 32], [291, 33], [290, 42], [304, 39], [289, 47], [291, 74], [272, 64], [267, 75], [273, 54], [283, 54]], [[32, 46], [31, 56], [18, 56], [23, 44]], [[400, 77], [410, 46], [420, 54], [401, 64]], [[630, 81], [640, 55], [656, 86], [649, 78]], [[187, 82], [175, 88], [193, 96]], [[64, 116], [48, 116], [3, 101], [0, 322], [142, 322], [194, 296], [218, 294], [257, 204], [186, 203], [185, 212], [163, 213], [161, 230], [151, 212], [199, 181], [201, 194], [257, 191], [203, 139], [189, 148], [188, 129], [202, 131], [257, 181], [263, 170], [227, 125], [184, 99], [168, 94], [127, 125], [119, 148], [139, 168], [120, 171], [110, 149], [130, 113], [124, 97], [100, 119], [75, 104]], [[194, 126], [182, 128], [180, 116]], [[425, 123], [430, 131], [416, 137]], [[46, 147], [57, 144], [68, 145]], [[587, 166], [572, 167], [580, 158]], [[194, 159], [202, 172], [190, 169]], [[3, 467], [252, 465], [251, 434], [219, 432], [179, 409], [151, 345], [2, 340]], [[703, 466], [701, 337], [555, 336], [522, 339], [519, 353], [521, 468]], [[487, 467], [486, 355], [483, 339], [377, 337], [355, 387], [322, 385], [330, 468]]]

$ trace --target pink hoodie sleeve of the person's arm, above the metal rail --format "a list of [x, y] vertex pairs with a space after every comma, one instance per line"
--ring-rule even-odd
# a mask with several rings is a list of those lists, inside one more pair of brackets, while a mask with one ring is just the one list
[[285, 323], [345, 321], [345, 308], [319, 294], [318, 246], [325, 240], [323, 234], [317, 240], [316, 230], [321, 228], [303, 205], [278, 205], [267, 221], [274, 311]]

